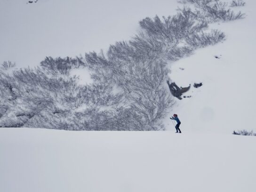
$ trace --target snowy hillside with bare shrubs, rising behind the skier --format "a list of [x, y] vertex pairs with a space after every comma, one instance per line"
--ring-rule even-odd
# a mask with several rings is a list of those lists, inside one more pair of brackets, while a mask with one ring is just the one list
[[[99, 7], [94, 3], [90, 6], [101, 10], [104, 3], [97, 3]], [[166, 2], [163, 1], [162, 4], [164, 3]], [[183, 6], [176, 1], [169, 3], [171, 4], [165, 7]], [[17, 70], [12, 73], [3, 69], [1, 72], [0, 127], [170, 130], [172, 124], [168, 118], [173, 113], [178, 113], [182, 120], [181, 128], [187, 132], [232, 133], [233, 130], [255, 129], [251, 126], [256, 114], [251, 107], [255, 104], [253, 1], [248, 1], [245, 6], [232, 8], [221, 1], [212, 1], [209, 4], [199, 4], [201, 7], [195, 10], [195, 4], [187, 3], [183, 9], [169, 10], [169, 13], [166, 13], [167, 8], [162, 8], [160, 12], [158, 6], [155, 10], [144, 7], [148, 17], [141, 15], [144, 12], [139, 12], [133, 14], [136, 22], [131, 19], [127, 23], [125, 19], [121, 19], [127, 16], [126, 13], [119, 14], [124, 5], [115, 4], [116, 15], [108, 15], [108, 21], [112, 23], [109, 30], [98, 30], [97, 24], [90, 23], [88, 16], [93, 16], [90, 11], [78, 11], [86, 7], [86, 4], [81, 1], [72, 4], [74, 6], [57, 1], [29, 4], [22, 1], [1, 2], [1, 7], [6, 7], [2, 10], [6, 19], [1, 21], [6, 27], [0, 35], [5, 45], [3, 51], [0, 51], [0, 59], [17, 60]], [[155, 4], [152, 1], [146, 6]], [[139, 5], [144, 6], [144, 3], [139, 2]], [[69, 15], [63, 12], [56, 15], [55, 10], [59, 6], [61, 10], [68, 10]], [[45, 8], [49, 12], [48, 17], [45, 17]], [[140, 7], [128, 3], [127, 8], [133, 10]], [[20, 23], [14, 26], [16, 17], [7, 12], [15, 10], [16, 15], [21, 15], [20, 23], [33, 26], [34, 32]], [[24, 12], [26, 15], [22, 15]], [[166, 16], [153, 17], [153, 12]], [[102, 12], [102, 16], [104, 14]], [[170, 14], [172, 16], [168, 17]], [[35, 16], [30, 18], [29, 15]], [[81, 27], [73, 31], [72, 27], [66, 28], [66, 24], [70, 23], [70, 16], [84, 18], [86, 22], [82, 25], [72, 23]], [[132, 37], [128, 38], [127, 33], [119, 32], [127, 40], [114, 43], [108, 35], [119, 40], [111, 31], [117, 16], [121, 19], [122, 26], [130, 27], [126, 32]], [[35, 25], [33, 19], [40, 22]], [[138, 21], [140, 28], [136, 24]], [[78, 19], [75, 22], [79, 22]], [[104, 20], [101, 22], [106, 24]], [[94, 31], [83, 31], [82, 27], [88, 29], [86, 26]], [[17, 35], [10, 32], [15, 27], [21, 30]], [[120, 29], [123, 30], [123, 27]], [[88, 44], [88, 47], [81, 48], [81, 51], [88, 51], [92, 44], [97, 45], [84, 39], [82, 34], [92, 40], [92, 34], [102, 31], [107, 32], [97, 33], [105, 39], [99, 41], [102, 43], [102, 52], [92, 51], [85, 56], [64, 57], [79, 55], [73, 55], [73, 48], [81, 48], [83, 43]], [[29, 35], [25, 37], [24, 34]], [[17, 42], [14, 35], [20, 41]], [[37, 41], [33, 40], [35, 38]], [[81, 41], [76, 43], [76, 38]], [[46, 44], [43, 46], [38, 40]], [[108, 45], [111, 44], [109, 48], [105, 47], [106, 41]], [[13, 43], [18, 43], [16, 48], [26, 45], [29, 51], [27, 48], [17, 51], [13, 49]], [[62, 43], [68, 46], [63, 46]], [[33, 69], [31, 67], [38, 66], [43, 58], [32, 54], [31, 48], [35, 46], [51, 52], [33, 49], [37, 53], [63, 58], [48, 56], [41, 61], [40, 67]], [[71, 50], [70, 54], [63, 48]], [[26, 55], [27, 51], [30, 55]], [[16, 54], [22, 56], [16, 57]], [[29, 64], [30, 68], [18, 69], [25, 66], [24, 63]], [[190, 98], [177, 100], [171, 96], [166, 84], [168, 79], [178, 86], [191, 84], [191, 89], [185, 93]], [[192, 87], [199, 82], [203, 83], [202, 87]], [[241, 117], [243, 115], [246, 117]]]

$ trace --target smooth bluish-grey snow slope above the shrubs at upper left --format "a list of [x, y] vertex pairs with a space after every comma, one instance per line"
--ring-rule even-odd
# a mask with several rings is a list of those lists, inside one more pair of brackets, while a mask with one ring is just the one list
[[0, 0], [0, 63], [36, 66], [46, 56], [107, 49], [130, 40], [146, 16], [168, 16], [176, 0]]

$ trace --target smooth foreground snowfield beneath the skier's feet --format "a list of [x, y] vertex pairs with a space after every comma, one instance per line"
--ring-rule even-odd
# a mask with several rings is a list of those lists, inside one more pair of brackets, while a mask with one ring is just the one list
[[0, 129], [1, 192], [255, 192], [256, 138]]

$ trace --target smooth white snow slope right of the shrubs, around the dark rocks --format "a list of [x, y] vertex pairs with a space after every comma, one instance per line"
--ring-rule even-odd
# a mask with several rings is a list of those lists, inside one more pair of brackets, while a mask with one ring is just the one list
[[[179, 114], [181, 129], [189, 132], [232, 133], [233, 130], [256, 131], [256, 1], [247, 0], [239, 9], [246, 18], [217, 23], [226, 40], [215, 46], [196, 50], [194, 55], [169, 65], [171, 80], [187, 87], [202, 82], [176, 100], [173, 113]], [[215, 56], [219, 57], [216, 58]], [[181, 70], [184, 69], [184, 70]], [[175, 129], [169, 119], [168, 129]]]

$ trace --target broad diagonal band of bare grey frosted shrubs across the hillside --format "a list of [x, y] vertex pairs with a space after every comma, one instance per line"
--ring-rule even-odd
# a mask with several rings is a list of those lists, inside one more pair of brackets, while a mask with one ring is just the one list
[[[106, 53], [46, 57], [35, 69], [1, 72], [0, 127], [164, 130], [162, 119], [174, 103], [166, 83], [168, 62], [222, 42], [224, 32], [209, 30], [209, 23], [243, 17], [218, 0], [188, 2], [195, 8], [144, 18], [140, 32]], [[92, 83], [74, 75], [80, 67], [90, 71]]]

